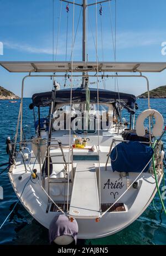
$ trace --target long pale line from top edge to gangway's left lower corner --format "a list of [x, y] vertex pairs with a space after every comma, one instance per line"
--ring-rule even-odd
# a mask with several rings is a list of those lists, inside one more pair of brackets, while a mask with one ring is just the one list
[[[71, 46], [71, 89], [70, 89], [70, 110], [72, 106], [72, 67], [73, 67], [73, 49], [74, 49], [74, 14], [75, 14], [75, 0], [73, 1], [73, 13], [72, 13], [72, 46]], [[70, 111], [70, 118], [69, 118], [69, 166], [68, 166], [68, 197], [67, 197], [67, 210], [69, 212], [69, 171], [70, 171], [70, 149], [71, 149], [71, 111]]]

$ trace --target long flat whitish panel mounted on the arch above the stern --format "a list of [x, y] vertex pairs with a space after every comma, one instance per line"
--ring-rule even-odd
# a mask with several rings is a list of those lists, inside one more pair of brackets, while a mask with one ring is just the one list
[[0, 62], [9, 72], [162, 72], [166, 62]]

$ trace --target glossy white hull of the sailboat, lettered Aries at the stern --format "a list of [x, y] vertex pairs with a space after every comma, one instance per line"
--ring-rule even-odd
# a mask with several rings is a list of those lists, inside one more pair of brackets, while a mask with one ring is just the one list
[[[33, 165], [33, 164], [32, 164]], [[97, 164], [96, 168], [97, 168]], [[58, 165], [57, 165], [58, 166]], [[35, 164], [34, 168], [38, 170], [37, 174], [40, 177], [39, 172], [39, 164]], [[19, 180], [18, 177], [22, 176], [22, 179]], [[120, 189], [108, 189], [108, 185], [103, 189], [104, 184], [106, 184], [108, 178], [111, 180], [120, 179], [120, 173], [112, 172], [110, 164], [108, 164], [107, 171], [105, 170], [105, 164], [101, 163], [101, 203], [109, 204], [114, 203], [118, 197], [125, 191], [127, 179], [129, 179], [129, 184], [133, 182], [134, 179], [138, 176], [138, 173], [129, 173], [129, 177], [122, 177], [122, 182], [124, 184], [124, 188], [122, 192]], [[9, 172], [9, 179], [11, 180], [13, 189], [17, 194], [17, 197], [20, 197], [22, 190], [24, 188], [25, 183], [27, 183], [30, 177], [30, 173], [25, 173], [24, 165], [22, 161], [17, 162], [16, 168], [12, 169], [12, 172]], [[47, 178], [46, 178], [47, 179]], [[162, 180], [162, 174], [158, 176], [158, 183], [160, 184]], [[79, 225], [79, 234], [78, 238], [80, 239], [93, 239], [93, 238], [102, 238], [107, 235], [111, 235], [119, 232], [123, 228], [126, 228], [129, 224], [134, 222], [139, 215], [141, 215], [144, 210], [151, 203], [155, 193], [157, 192], [155, 179], [153, 174], [151, 173], [142, 173], [138, 178], [139, 187], [134, 189], [133, 187], [129, 188], [129, 190], [123, 195], [123, 197], [118, 201], [118, 203], [123, 203], [125, 206], [125, 211], [123, 212], [107, 212], [99, 222], [95, 222], [95, 219], [80, 219], [77, 218], [77, 223]], [[48, 191], [47, 181], [45, 182], [45, 190]], [[61, 186], [57, 184], [57, 186]], [[55, 187], [55, 185], [54, 185]], [[110, 192], [114, 193], [118, 191], [115, 195], [113, 193], [110, 195]], [[71, 199], [71, 191], [70, 198]], [[60, 195], [50, 195], [50, 197], [54, 200], [54, 202], [63, 202], [64, 195], [63, 193]], [[114, 198], [115, 197], [115, 198]], [[86, 200], [86, 198], [80, 198], [80, 200]], [[25, 209], [35, 218], [40, 224], [44, 227], [49, 228], [49, 224], [51, 220], [55, 217], [55, 215], [59, 214], [59, 212], [51, 212], [50, 207], [48, 213], [46, 213], [46, 208], [48, 205], [48, 196], [43, 191], [41, 187], [41, 180], [39, 178], [39, 182], [34, 184], [29, 182], [24, 189], [22, 197], [20, 198], [20, 202], [23, 204]], [[51, 206], [51, 203], [50, 203]], [[108, 208], [108, 207], [107, 207]]]

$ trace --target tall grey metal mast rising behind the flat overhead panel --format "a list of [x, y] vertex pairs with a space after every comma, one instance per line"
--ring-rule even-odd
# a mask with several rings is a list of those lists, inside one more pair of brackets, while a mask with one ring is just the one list
[[[82, 2], [82, 61], [86, 61], [86, 8], [87, 0]], [[82, 72], [85, 75], [85, 72]], [[84, 87], [84, 77], [82, 77], [82, 86]]]

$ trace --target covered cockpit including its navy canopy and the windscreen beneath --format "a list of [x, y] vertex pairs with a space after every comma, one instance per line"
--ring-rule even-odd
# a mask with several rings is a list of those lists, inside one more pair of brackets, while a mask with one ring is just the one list
[[[132, 94], [117, 93], [99, 90], [97, 102], [97, 89], [89, 88], [90, 98], [87, 102], [86, 88], [61, 89], [56, 91], [54, 102], [52, 92], [37, 93], [32, 97], [30, 109], [38, 108], [38, 118], [35, 129], [40, 132], [51, 130], [72, 130], [73, 133], [95, 134], [99, 130], [109, 130], [122, 123], [120, 113], [127, 109], [131, 116], [136, 109], [136, 97]], [[70, 101], [71, 99], [71, 101]], [[53, 104], [52, 104], [53, 103]], [[53, 107], [51, 112], [51, 106]], [[48, 107], [48, 113], [41, 118], [41, 109]], [[50, 113], [52, 113], [50, 115]], [[51, 119], [51, 122], [50, 122]]]

